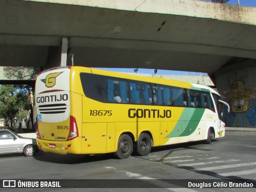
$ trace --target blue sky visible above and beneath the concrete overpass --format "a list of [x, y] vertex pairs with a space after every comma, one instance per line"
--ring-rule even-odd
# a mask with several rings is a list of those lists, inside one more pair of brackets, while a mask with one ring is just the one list
[[[212, 0], [201, 0], [201, 1], [208, 1], [211, 2]], [[250, 6], [250, 7], [256, 7], [256, 0], [239, 0], [240, 6]], [[238, 5], [238, 0], [229, 0], [226, 2], [226, 4], [232, 4], [232, 5]], [[117, 71], [117, 72], [127, 72], [127, 73], [134, 73], [134, 69], [119, 69], [119, 68], [98, 68], [103, 69], [107, 71]], [[147, 73], [152, 74], [153, 69], [138, 69], [138, 73]], [[206, 73], [193, 73], [193, 72], [187, 72], [187, 71], [170, 71], [170, 70], [160, 70], [158, 69], [157, 74], [162, 75], [206, 75]]]

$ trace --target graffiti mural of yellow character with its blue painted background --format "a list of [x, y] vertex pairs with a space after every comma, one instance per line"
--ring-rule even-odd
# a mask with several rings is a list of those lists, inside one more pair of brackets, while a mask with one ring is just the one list
[[[232, 109], [231, 113], [226, 115], [226, 126], [230, 127], [255, 127], [255, 97], [251, 89], [244, 87], [243, 82], [236, 80], [231, 85], [231, 90], [228, 91], [228, 103]], [[226, 92], [227, 93], [227, 92]]]

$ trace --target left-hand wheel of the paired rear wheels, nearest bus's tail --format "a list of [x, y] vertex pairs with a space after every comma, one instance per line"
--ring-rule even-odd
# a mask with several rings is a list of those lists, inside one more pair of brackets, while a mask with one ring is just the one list
[[115, 152], [116, 158], [128, 158], [132, 153], [132, 139], [129, 135], [123, 134], [118, 139], [117, 151]]

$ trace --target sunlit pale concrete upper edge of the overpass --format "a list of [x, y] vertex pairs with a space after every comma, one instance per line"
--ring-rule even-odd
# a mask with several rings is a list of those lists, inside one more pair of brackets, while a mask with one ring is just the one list
[[126, 10], [145, 13], [172, 14], [198, 18], [210, 18], [228, 22], [256, 25], [255, 8], [239, 7], [228, 4], [216, 4], [200, 0], [24, 0], [32, 2], [47, 2], [53, 4], [68, 4], [78, 6], [100, 7], [116, 10]]

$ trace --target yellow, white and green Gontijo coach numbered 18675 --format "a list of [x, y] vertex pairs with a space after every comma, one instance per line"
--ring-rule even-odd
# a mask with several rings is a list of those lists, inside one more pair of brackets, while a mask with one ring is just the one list
[[[210, 87], [87, 67], [56, 67], [36, 80], [38, 148], [58, 154], [132, 151], [224, 137], [224, 105]], [[228, 107], [229, 109], [229, 107]]]

